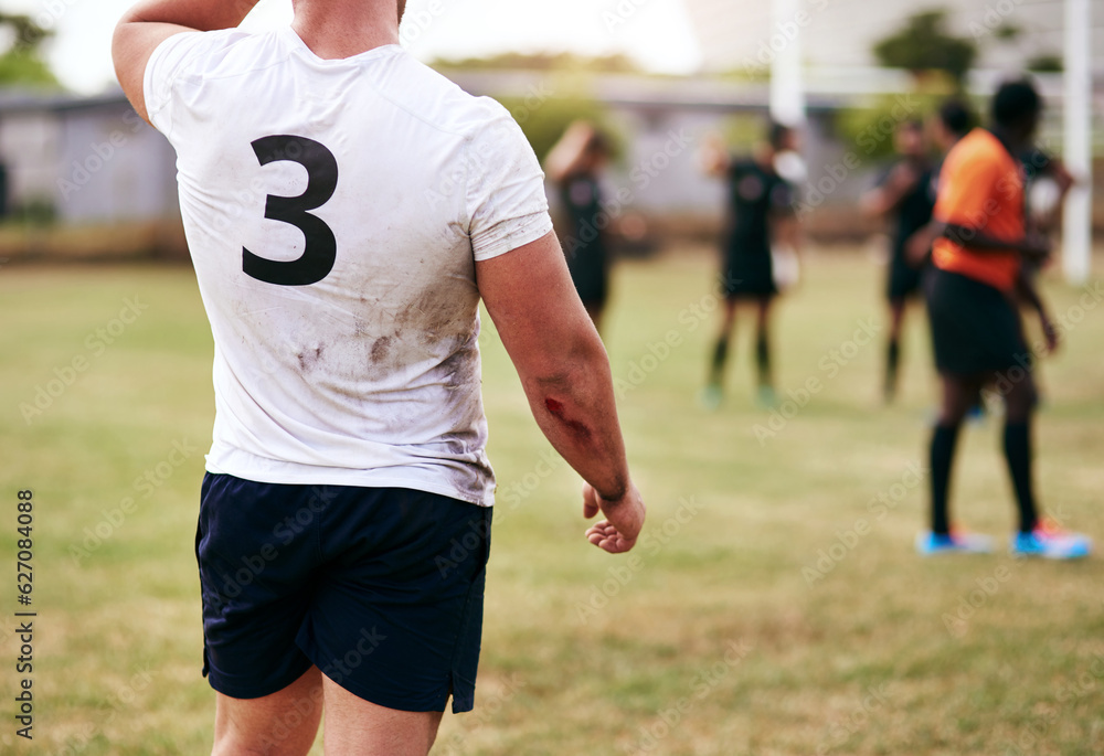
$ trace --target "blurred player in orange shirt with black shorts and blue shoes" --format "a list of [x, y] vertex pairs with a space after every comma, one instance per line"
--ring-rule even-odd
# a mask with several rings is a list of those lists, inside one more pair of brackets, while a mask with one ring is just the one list
[[1018, 289], [1039, 301], [1051, 349], [1057, 332], [1023, 276], [1023, 260], [1044, 258], [1049, 247], [1026, 228], [1023, 179], [1016, 155], [1030, 143], [1041, 108], [1029, 82], [1002, 85], [992, 99], [991, 129], [975, 129], [964, 137], [951, 150], [940, 177], [927, 306], [943, 400], [931, 443], [932, 530], [916, 541], [922, 554], [991, 549], [985, 536], [953, 532], [947, 511], [959, 427], [970, 402], [988, 384], [1005, 402], [1004, 452], [1019, 510], [1012, 553], [1072, 558], [1090, 551], [1087, 537], [1060, 532], [1040, 520], [1031, 480], [1033, 355], [1013, 305]]

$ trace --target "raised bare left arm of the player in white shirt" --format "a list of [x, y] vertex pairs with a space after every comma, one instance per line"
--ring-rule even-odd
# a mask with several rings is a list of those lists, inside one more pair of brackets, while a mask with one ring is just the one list
[[181, 32], [233, 29], [257, 0], [142, 0], [124, 13], [112, 39], [115, 75], [135, 111], [149, 123], [142, 81], [150, 55]]

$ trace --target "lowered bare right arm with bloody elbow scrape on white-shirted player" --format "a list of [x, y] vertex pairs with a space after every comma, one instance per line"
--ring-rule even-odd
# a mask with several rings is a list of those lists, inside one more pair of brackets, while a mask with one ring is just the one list
[[628, 551], [644, 524], [644, 503], [629, 478], [609, 360], [560, 243], [549, 233], [478, 262], [476, 281], [537, 424], [587, 482], [585, 514], [606, 515], [587, 537], [609, 552]]

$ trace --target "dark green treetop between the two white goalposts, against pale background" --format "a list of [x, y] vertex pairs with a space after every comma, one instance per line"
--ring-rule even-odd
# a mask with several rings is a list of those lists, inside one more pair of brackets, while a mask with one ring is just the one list
[[946, 11], [930, 10], [909, 18], [896, 33], [873, 47], [878, 61], [889, 68], [914, 73], [944, 71], [962, 84], [977, 57], [977, 45], [946, 31]]

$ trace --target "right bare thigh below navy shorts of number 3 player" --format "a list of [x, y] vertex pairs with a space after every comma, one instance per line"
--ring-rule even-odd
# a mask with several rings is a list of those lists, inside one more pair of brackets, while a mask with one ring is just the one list
[[444, 712], [403, 712], [365, 701], [323, 678], [326, 756], [426, 756]]

